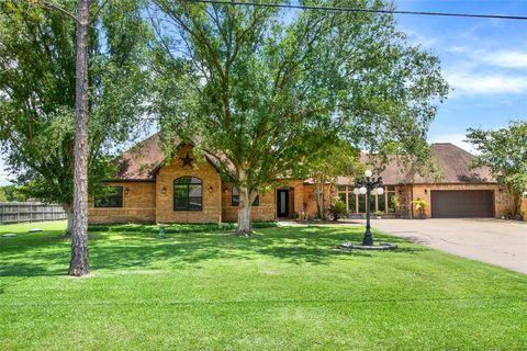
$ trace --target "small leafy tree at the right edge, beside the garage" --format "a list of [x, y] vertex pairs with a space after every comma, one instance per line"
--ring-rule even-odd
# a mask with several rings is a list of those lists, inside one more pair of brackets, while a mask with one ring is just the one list
[[520, 214], [522, 195], [527, 191], [527, 122], [512, 121], [506, 128], [469, 128], [467, 141], [479, 151], [472, 167], [485, 166], [511, 196], [509, 215]]

